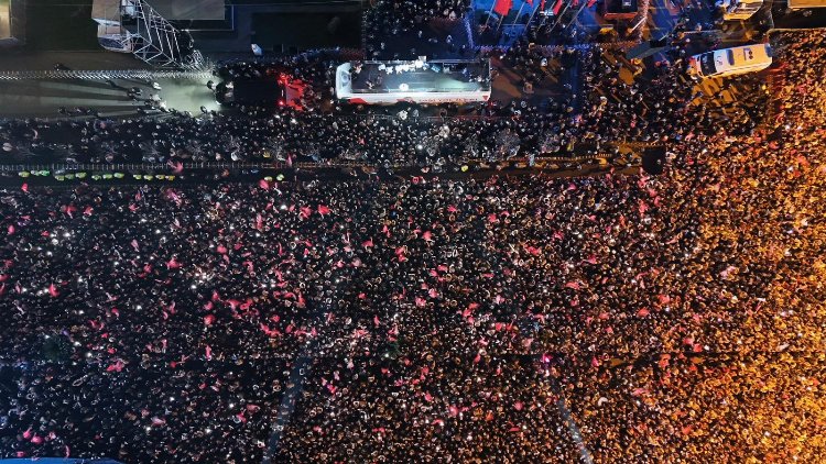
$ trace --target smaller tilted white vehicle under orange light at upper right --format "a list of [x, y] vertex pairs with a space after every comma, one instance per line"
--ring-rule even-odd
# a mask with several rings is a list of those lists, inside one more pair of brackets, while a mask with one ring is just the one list
[[692, 56], [688, 74], [695, 78], [727, 77], [765, 69], [771, 64], [769, 44], [743, 45]]

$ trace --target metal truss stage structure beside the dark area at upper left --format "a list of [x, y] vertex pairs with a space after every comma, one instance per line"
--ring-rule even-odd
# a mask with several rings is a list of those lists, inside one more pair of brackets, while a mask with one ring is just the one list
[[145, 0], [95, 0], [98, 42], [160, 68], [200, 69], [204, 58], [189, 33], [176, 29]]

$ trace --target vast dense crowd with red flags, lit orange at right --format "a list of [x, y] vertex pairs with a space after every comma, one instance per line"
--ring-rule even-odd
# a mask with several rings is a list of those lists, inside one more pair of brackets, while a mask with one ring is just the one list
[[0, 457], [817, 462], [826, 42], [780, 42], [762, 128], [706, 124], [667, 66], [611, 84], [598, 53], [582, 111], [6, 125], [105, 161], [447, 163], [502, 131], [670, 154], [657, 177], [2, 190]]

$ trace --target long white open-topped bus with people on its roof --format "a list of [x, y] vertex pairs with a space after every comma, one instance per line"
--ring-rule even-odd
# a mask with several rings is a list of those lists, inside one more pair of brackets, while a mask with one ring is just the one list
[[355, 104], [467, 103], [490, 99], [489, 60], [350, 62], [336, 69], [336, 97]]

